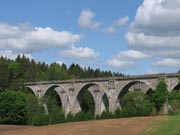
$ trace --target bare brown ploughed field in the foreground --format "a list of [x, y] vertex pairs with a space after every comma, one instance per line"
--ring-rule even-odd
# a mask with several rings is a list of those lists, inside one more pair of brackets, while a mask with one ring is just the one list
[[42, 127], [0, 125], [1, 135], [135, 135], [164, 117], [122, 118]]

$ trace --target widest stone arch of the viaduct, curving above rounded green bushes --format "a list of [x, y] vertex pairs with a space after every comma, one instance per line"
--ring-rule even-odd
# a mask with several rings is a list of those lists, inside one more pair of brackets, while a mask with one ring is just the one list
[[[134, 87], [134, 90], [132, 88], [132, 86], [134, 86], [135, 84], [137, 84], [137, 87]], [[138, 86], [139, 85], [139, 86]], [[140, 87], [142, 87], [141, 89], [139, 89]], [[148, 94], [148, 92], [152, 91], [152, 86], [143, 80], [134, 80], [134, 81], [130, 81], [125, 83], [119, 90], [118, 93], [116, 95], [116, 100], [117, 100], [117, 106], [121, 107], [122, 104], [122, 98], [123, 96], [130, 91], [142, 91], [145, 94]]]

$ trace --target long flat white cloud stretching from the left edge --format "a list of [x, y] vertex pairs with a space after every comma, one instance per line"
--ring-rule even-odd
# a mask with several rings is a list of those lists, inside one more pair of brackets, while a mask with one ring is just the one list
[[56, 31], [50, 27], [33, 27], [26, 24], [0, 23], [0, 49], [18, 52], [33, 52], [48, 48], [68, 48], [81, 40], [79, 34]]

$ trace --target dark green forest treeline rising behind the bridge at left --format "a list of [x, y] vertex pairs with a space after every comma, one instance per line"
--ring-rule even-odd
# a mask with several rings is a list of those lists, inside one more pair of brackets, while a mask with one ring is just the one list
[[90, 67], [82, 68], [72, 63], [66, 64], [36, 62], [34, 59], [18, 55], [15, 60], [0, 58], [0, 90], [19, 90], [24, 82], [122, 76], [121, 73], [102, 71]]

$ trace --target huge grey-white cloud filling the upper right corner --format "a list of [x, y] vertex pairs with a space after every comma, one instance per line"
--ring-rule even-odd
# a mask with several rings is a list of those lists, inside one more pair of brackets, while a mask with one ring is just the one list
[[144, 0], [125, 36], [129, 48], [159, 58], [156, 66], [179, 67], [179, 14], [180, 0]]

